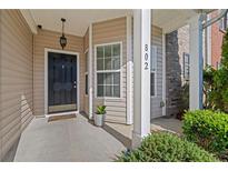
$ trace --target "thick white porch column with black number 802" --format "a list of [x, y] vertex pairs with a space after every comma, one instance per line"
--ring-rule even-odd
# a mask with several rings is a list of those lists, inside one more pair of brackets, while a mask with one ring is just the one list
[[150, 133], [150, 10], [133, 10], [132, 148]]

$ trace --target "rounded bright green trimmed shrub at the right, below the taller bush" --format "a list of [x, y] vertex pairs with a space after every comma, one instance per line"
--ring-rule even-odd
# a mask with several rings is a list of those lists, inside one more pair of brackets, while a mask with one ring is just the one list
[[184, 135], [216, 154], [228, 150], [228, 114], [219, 111], [196, 110], [184, 115]]

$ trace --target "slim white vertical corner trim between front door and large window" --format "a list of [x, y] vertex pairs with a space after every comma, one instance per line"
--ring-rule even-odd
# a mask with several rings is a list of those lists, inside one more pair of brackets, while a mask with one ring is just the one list
[[89, 119], [92, 119], [92, 23], [89, 26], [89, 73], [88, 73], [88, 83], [89, 83]]

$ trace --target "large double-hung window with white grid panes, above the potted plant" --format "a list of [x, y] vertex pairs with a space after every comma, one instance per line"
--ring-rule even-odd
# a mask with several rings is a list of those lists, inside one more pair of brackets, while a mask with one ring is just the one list
[[121, 43], [96, 47], [97, 97], [120, 98]]

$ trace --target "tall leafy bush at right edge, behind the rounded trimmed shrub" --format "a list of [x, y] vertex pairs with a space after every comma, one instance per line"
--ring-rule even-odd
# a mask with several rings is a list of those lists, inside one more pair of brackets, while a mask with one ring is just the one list
[[228, 31], [224, 37], [221, 64], [204, 71], [205, 107], [228, 112]]

